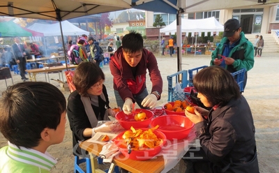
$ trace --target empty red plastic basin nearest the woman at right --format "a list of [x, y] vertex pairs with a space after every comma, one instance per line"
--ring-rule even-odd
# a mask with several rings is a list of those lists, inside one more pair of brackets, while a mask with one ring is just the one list
[[157, 130], [163, 132], [166, 135], [167, 140], [181, 140], [188, 137], [194, 123], [192, 123], [192, 121], [186, 116], [167, 114], [158, 116], [151, 121], [151, 127], [157, 125], [159, 125]]

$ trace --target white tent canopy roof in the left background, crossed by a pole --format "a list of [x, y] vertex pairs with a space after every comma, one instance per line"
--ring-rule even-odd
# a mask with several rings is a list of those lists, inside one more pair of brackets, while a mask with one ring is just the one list
[[[80, 36], [82, 34], [89, 35], [89, 31], [84, 31], [67, 20], [61, 22], [64, 36]], [[28, 29], [43, 33], [44, 36], [61, 36], [59, 23], [56, 24], [32, 24]]]

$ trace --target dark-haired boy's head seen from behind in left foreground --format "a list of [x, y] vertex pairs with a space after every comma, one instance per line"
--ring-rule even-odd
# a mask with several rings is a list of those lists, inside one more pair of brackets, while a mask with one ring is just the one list
[[34, 148], [40, 142], [63, 141], [66, 99], [47, 82], [23, 82], [8, 87], [0, 98], [0, 131], [17, 146]]

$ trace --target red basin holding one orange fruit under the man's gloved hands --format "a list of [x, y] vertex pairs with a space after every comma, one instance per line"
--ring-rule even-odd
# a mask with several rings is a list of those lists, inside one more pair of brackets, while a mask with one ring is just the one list
[[[135, 121], [135, 114], [140, 111], [145, 112], [147, 119], [144, 121]], [[120, 125], [127, 130], [130, 130], [131, 126], [133, 126], [133, 128], [146, 128], [149, 126], [152, 118], [153, 112], [144, 109], [136, 109], [135, 113], [130, 115], [125, 114], [123, 111], [118, 112], [115, 115], [115, 119], [119, 121]]]

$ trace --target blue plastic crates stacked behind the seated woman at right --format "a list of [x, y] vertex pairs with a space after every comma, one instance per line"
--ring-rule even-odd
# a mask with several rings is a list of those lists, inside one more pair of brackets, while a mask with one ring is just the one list
[[[195, 74], [198, 73], [199, 70], [206, 68], [207, 66], [201, 66], [197, 68], [192, 68], [190, 70], [181, 70], [177, 73], [167, 76], [167, 101], [173, 102], [175, 100], [186, 100], [188, 96], [190, 96], [190, 92], [181, 92], [176, 91], [176, 84], [180, 84], [181, 89], [186, 87], [193, 87], [193, 78]], [[239, 88], [241, 93], [244, 91], [243, 89], [243, 81], [244, 75], [246, 73], [245, 69], [241, 69], [234, 73], [231, 73], [234, 76], [234, 80], [236, 80], [237, 84], [239, 84]]]

